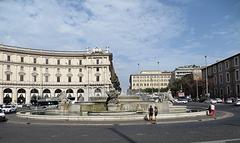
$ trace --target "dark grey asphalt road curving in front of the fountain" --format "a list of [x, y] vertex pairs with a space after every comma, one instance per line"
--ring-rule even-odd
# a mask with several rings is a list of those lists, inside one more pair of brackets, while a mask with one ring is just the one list
[[72, 126], [0, 123], [0, 143], [240, 142], [240, 107], [219, 104], [216, 105], [216, 109], [231, 112], [234, 116], [204, 122], [157, 125]]

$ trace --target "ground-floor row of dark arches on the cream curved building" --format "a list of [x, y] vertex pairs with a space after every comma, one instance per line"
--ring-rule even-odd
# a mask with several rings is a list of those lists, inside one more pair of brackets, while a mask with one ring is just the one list
[[57, 97], [61, 92], [65, 92], [67, 97], [71, 97], [75, 102], [89, 101], [92, 96], [104, 96], [107, 88], [29, 88], [29, 87], [2, 87], [0, 88], [0, 104], [10, 100], [13, 104], [30, 104], [33, 98]]

